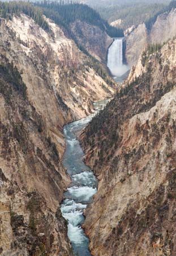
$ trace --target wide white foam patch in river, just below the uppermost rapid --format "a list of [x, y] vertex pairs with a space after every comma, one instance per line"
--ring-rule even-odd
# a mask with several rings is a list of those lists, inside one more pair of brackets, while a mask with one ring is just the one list
[[96, 188], [92, 187], [78, 187], [74, 186], [71, 188], [68, 188], [68, 192], [70, 195], [79, 201], [89, 201], [93, 195], [97, 192]]

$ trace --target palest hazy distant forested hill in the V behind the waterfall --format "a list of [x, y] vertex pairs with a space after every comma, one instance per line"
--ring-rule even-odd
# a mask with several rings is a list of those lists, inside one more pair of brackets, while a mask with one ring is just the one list
[[[76, 2], [76, 0], [75, 0]], [[121, 19], [119, 27], [126, 29], [132, 25], [138, 25], [152, 18], [159, 13], [169, 0], [81, 0], [80, 2], [95, 8], [101, 17], [108, 20], [109, 23]]]

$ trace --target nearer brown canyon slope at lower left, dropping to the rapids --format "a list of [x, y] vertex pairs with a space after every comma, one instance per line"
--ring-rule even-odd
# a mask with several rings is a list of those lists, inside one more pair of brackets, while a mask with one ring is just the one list
[[59, 210], [70, 180], [22, 77], [2, 56], [0, 74], [1, 255], [72, 255]]

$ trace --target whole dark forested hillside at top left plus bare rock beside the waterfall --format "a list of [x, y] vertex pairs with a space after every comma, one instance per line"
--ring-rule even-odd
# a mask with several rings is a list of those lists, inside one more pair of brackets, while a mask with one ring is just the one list
[[12, 19], [20, 13], [29, 15], [45, 31], [50, 32], [49, 18], [55, 22], [65, 35], [73, 39], [76, 45], [86, 53], [102, 62], [106, 62], [106, 51], [113, 37], [123, 36], [121, 28], [115, 28], [100, 17], [91, 7], [72, 3], [70, 1], [37, 2], [35, 4], [23, 1], [0, 2], [0, 16]]

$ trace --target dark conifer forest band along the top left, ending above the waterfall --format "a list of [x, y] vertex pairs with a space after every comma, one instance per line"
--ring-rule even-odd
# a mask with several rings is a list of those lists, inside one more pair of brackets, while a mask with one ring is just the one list
[[[38, 8], [40, 6], [41, 8]], [[68, 30], [69, 24], [79, 19], [89, 24], [98, 26], [102, 31], [106, 31], [111, 37], [122, 36], [123, 31], [111, 27], [106, 20], [102, 19], [100, 15], [91, 7], [79, 3], [71, 3], [69, 1], [60, 2], [41, 2], [33, 6], [29, 2], [12, 1], [12, 2], [0, 2], [0, 15], [2, 18], [9, 18], [13, 14], [19, 15], [21, 12], [27, 14], [33, 18], [36, 23], [49, 30], [49, 26], [42, 14], [45, 14], [48, 18], [53, 19], [59, 26], [63, 26]]]

